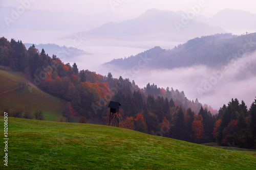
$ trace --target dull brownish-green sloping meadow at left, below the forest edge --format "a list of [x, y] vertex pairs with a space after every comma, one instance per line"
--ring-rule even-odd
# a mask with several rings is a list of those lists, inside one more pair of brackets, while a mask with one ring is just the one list
[[27, 87], [19, 90], [20, 81], [27, 82], [19, 72], [0, 70], [1, 106], [11, 111], [23, 110], [31, 114], [39, 110], [43, 112], [46, 120], [59, 121], [63, 117], [65, 102], [37, 88], [32, 88], [32, 92]]

